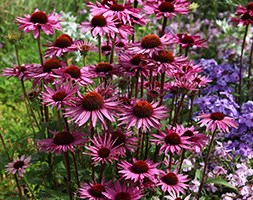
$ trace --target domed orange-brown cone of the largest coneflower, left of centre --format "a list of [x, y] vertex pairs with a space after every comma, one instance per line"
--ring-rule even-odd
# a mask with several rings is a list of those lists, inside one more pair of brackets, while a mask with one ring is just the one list
[[104, 98], [97, 92], [89, 92], [83, 96], [82, 107], [85, 110], [99, 110], [104, 105]]

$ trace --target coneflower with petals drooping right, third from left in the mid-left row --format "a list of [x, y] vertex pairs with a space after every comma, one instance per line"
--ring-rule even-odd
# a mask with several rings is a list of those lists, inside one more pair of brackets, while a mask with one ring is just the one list
[[93, 76], [88, 72], [87, 67], [79, 68], [76, 65], [70, 65], [59, 70], [54, 70], [55, 74], [60, 76], [63, 81], [73, 81], [79, 85], [86, 86], [93, 83]]

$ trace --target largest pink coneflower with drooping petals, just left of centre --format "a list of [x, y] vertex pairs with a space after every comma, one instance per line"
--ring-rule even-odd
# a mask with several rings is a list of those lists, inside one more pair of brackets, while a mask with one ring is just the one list
[[102, 127], [106, 127], [105, 118], [114, 122], [115, 111], [118, 110], [116, 97], [105, 99], [96, 91], [88, 92], [85, 95], [78, 93], [76, 106], [66, 108], [65, 116], [70, 117], [72, 121], [79, 126], [84, 125], [89, 119], [93, 127], [96, 126], [99, 119]]

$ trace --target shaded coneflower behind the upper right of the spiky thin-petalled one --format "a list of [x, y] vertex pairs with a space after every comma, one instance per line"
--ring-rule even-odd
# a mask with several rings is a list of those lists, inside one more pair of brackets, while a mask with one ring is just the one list
[[134, 152], [138, 139], [133, 136], [132, 131], [122, 131], [121, 129], [115, 131], [108, 131], [112, 136], [112, 140], [115, 141], [113, 147], [119, 146], [119, 151], [126, 153], [126, 150]]

